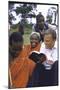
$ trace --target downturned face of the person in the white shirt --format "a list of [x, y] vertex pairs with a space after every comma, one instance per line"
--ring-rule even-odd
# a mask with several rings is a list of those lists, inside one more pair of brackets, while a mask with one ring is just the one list
[[55, 40], [53, 40], [51, 34], [48, 34], [44, 36], [44, 43], [46, 48], [52, 49], [55, 44]]

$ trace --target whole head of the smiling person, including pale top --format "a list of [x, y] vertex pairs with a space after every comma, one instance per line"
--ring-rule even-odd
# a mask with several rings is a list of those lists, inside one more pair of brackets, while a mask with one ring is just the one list
[[34, 48], [40, 43], [40, 34], [37, 32], [32, 32], [30, 35], [31, 47]]

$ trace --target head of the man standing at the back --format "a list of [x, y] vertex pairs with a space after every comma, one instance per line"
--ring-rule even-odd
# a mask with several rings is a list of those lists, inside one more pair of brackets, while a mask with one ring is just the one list
[[41, 13], [39, 13], [37, 15], [36, 21], [37, 21], [37, 25], [38, 25], [39, 29], [43, 30], [45, 20], [44, 20], [44, 16]]

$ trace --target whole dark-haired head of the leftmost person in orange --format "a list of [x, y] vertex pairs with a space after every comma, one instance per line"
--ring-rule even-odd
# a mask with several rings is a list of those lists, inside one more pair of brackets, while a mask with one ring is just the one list
[[20, 32], [13, 32], [9, 37], [9, 48], [12, 56], [18, 56], [23, 47], [23, 37]]

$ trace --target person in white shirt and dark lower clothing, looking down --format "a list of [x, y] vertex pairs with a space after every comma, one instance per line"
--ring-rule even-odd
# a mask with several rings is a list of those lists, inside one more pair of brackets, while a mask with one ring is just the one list
[[37, 63], [28, 87], [56, 86], [58, 85], [58, 55], [56, 32], [52, 29], [44, 33], [44, 45], [41, 45], [40, 53], [46, 55], [44, 63]]

